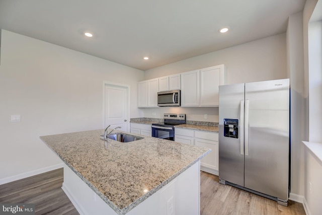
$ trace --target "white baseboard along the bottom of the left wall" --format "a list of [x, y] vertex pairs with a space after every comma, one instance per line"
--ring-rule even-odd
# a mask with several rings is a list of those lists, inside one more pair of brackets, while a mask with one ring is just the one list
[[7, 184], [7, 183], [10, 183], [10, 182], [13, 182], [13, 181], [20, 180], [20, 179], [28, 178], [28, 177], [31, 177], [31, 176], [39, 175], [39, 174], [49, 172], [49, 171], [52, 171], [52, 170], [56, 170], [56, 169], [59, 169], [59, 168], [62, 168], [62, 167], [63, 167], [63, 163], [60, 163], [60, 164], [55, 164], [55, 165], [52, 165], [52, 166], [49, 166], [49, 167], [44, 167], [44, 168], [29, 171], [29, 172], [21, 173], [21, 174], [18, 174], [18, 175], [13, 175], [13, 176], [10, 176], [10, 177], [7, 177], [7, 178], [2, 178], [2, 179], [0, 179], [0, 185]]

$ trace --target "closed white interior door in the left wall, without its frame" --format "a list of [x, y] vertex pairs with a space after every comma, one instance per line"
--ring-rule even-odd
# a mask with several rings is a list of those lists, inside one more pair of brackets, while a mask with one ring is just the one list
[[121, 126], [118, 130], [128, 131], [128, 90], [127, 86], [104, 83], [104, 127]]

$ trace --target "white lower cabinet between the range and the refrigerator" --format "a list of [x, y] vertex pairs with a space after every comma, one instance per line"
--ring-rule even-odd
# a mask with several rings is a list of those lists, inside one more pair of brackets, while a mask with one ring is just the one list
[[218, 175], [218, 133], [175, 128], [175, 141], [211, 149], [211, 152], [201, 159], [200, 169]]

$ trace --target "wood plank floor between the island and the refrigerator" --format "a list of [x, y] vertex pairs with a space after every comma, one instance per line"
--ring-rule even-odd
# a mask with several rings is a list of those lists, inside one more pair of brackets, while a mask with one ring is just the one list
[[288, 206], [271, 199], [219, 184], [219, 177], [201, 171], [200, 214], [305, 215], [301, 203], [289, 200]]

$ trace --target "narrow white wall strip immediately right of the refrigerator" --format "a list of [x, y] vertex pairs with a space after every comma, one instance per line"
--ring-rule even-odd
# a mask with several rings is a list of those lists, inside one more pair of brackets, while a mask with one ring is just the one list
[[[287, 73], [291, 85], [291, 193], [304, 196], [305, 99], [303, 13], [293, 14], [287, 28]], [[291, 196], [292, 198], [292, 196]]]

